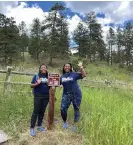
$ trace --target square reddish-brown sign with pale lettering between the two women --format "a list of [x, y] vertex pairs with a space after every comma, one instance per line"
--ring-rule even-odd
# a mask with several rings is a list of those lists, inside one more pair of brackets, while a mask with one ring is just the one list
[[60, 75], [57, 73], [48, 74], [48, 86], [59, 86]]

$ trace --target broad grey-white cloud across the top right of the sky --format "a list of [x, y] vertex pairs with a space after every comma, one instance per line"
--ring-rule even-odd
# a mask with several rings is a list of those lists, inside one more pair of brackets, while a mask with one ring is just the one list
[[132, 1], [67, 1], [66, 6], [79, 13], [103, 12], [107, 19], [115, 23], [133, 19]]

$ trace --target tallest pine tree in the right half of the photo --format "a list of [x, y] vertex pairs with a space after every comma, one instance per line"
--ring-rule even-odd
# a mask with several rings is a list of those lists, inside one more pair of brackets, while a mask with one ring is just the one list
[[94, 12], [90, 12], [86, 16], [85, 20], [89, 29], [89, 57], [93, 54], [95, 61], [96, 53], [99, 54], [100, 60], [104, 59], [105, 44], [102, 37], [102, 27], [97, 23], [96, 15]]

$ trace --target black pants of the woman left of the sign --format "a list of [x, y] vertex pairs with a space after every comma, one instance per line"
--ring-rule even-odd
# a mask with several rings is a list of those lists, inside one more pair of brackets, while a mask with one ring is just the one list
[[35, 127], [36, 124], [36, 120], [38, 119], [38, 126], [42, 125], [42, 121], [43, 121], [43, 117], [44, 117], [44, 113], [46, 110], [46, 107], [48, 105], [49, 102], [49, 98], [45, 98], [45, 97], [34, 97], [34, 111], [32, 113], [32, 117], [31, 117], [31, 128]]

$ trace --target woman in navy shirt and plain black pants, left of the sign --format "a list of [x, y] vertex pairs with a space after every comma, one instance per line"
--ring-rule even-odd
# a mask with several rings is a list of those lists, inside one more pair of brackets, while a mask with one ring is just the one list
[[33, 88], [34, 95], [34, 110], [31, 117], [30, 135], [35, 136], [35, 124], [37, 122], [37, 130], [44, 132], [42, 127], [42, 120], [44, 112], [49, 102], [49, 87], [48, 87], [48, 72], [45, 64], [39, 67], [39, 73], [34, 75], [31, 81], [31, 88]]

